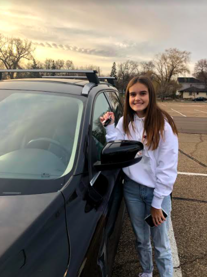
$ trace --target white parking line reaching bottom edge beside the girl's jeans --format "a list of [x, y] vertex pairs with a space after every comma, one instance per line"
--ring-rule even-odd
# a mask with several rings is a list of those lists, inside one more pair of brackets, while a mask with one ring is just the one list
[[177, 244], [175, 241], [175, 235], [173, 231], [173, 224], [171, 218], [169, 219], [169, 231], [168, 231], [170, 246], [173, 256], [174, 277], [182, 277], [182, 271], [180, 268], [180, 260], [178, 257]]

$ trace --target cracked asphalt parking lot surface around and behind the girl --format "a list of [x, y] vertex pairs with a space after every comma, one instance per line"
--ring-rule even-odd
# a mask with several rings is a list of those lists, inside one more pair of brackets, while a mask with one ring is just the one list
[[[174, 277], [207, 277], [207, 102], [159, 102], [159, 106], [174, 117], [179, 130], [170, 234]], [[112, 277], [137, 277], [142, 272], [134, 242], [126, 212]], [[159, 277], [154, 266], [153, 276]]]

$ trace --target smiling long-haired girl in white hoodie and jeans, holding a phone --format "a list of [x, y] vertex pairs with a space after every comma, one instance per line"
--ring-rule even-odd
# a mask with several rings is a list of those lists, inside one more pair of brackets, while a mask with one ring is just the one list
[[[152, 277], [152, 246], [160, 277], [173, 276], [173, 261], [168, 238], [171, 197], [177, 176], [178, 139], [172, 117], [156, 104], [155, 89], [147, 77], [135, 77], [126, 90], [124, 116], [114, 127], [114, 114], [107, 112], [100, 122], [111, 115], [106, 127], [107, 141], [137, 140], [143, 142], [140, 163], [123, 168], [124, 198], [131, 225], [136, 236], [136, 248], [143, 273]], [[102, 123], [104, 125], [104, 123]], [[167, 218], [163, 216], [163, 209]], [[144, 218], [152, 214], [155, 228]]]

